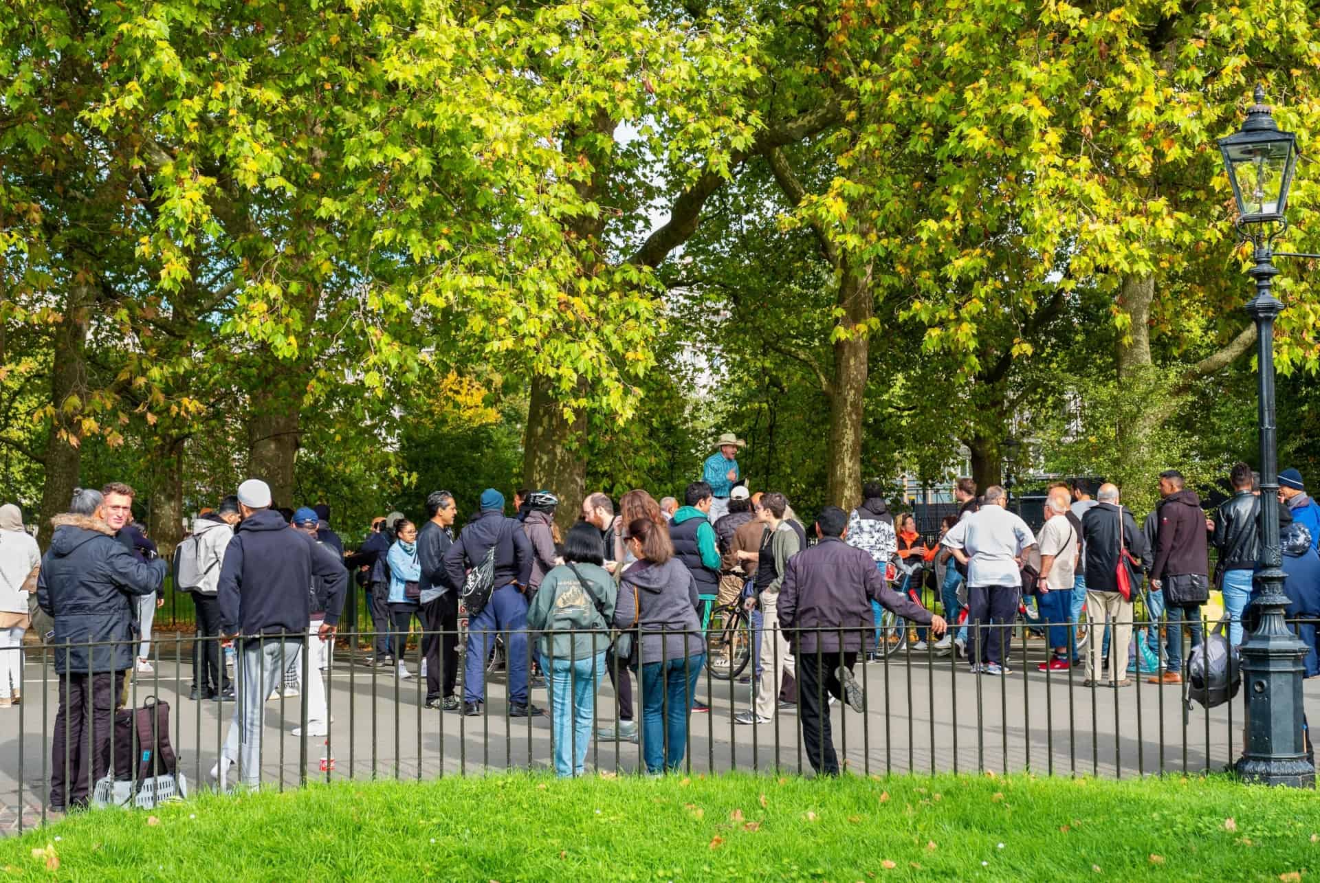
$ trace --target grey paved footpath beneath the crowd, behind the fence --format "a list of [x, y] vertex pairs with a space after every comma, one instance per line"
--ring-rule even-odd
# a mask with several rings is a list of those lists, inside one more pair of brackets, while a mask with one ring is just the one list
[[[857, 773], [978, 771], [1098, 776], [1151, 775], [1159, 771], [1222, 769], [1241, 746], [1242, 700], [1210, 713], [1193, 706], [1184, 719], [1183, 688], [1138, 680], [1122, 690], [1081, 686], [1082, 672], [1036, 670], [1044, 659], [1039, 641], [1015, 649], [1015, 672], [1007, 677], [975, 676], [950, 657], [913, 653], [887, 664], [858, 667], [866, 713], [834, 705], [832, 722], [841, 760]], [[416, 670], [416, 663], [409, 668]], [[232, 703], [186, 698], [191, 665], [162, 660], [154, 676], [135, 682], [136, 703], [149, 694], [170, 703], [173, 744], [190, 788], [209, 780], [228, 727]], [[1137, 678], [1134, 678], [1137, 680]], [[308, 739], [306, 764], [297, 726], [296, 698], [267, 703], [263, 780], [296, 788], [309, 779], [434, 777], [488, 769], [544, 769], [550, 762], [548, 718], [510, 719], [502, 676], [488, 682], [480, 717], [465, 718], [421, 707], [425, 684], [396, 681], [392, 669], [350, 664], [341, 652], [330, 672], [329, 701], [334, 723], [329, 739]], [[55, 682], [41, 677], [40, 656], [29, 655], [24, 702], [0, 715], [0, 832], [40, 824], [50, 763]], [[1305, 681], [1312, 718], [1320, 719], [1320, 678]], [[185, 698], [180, 698], [183, 696]], [[612, 723], [614, 693], [602, 678], [597, 703], [599, 723]], [[748, 707], [750, 688], [702, 673], [700, 698], [710, 714], [693, 714], [688, 763], [694, 772], [752, 769], [809, 772], [801, 750], [797, 717], [781, 713], [775, 723], [734, 726], [733, 711]], [[545, 690], [533, 702], [546, 705]], [[223, 717], [222, 717], [223, 714]], [[842, 730], [840, 729], [842, 725]], [[284, 734], [280, 738], [280, 734]], [[322, 756], [334, 758], [321, 771]], [[634, 743], [594, 742], [587, 767], [636, 771]], [[20, 784], [21, 781], [21, 784]]]

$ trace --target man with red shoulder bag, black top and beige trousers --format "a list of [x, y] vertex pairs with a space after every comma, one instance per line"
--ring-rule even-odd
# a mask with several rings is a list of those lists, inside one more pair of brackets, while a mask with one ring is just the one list
[[[1144, 540], [1137, 520], [1118, 502], [1118, 487], [1101, 484], [1098, 504], [1081, 520], [1082, 544], [1086, 549], [1086, 619], [1092, 641], [1086, 653], [1086, 680], [1082, 686], [1102, 686], [1101, 641], [1105, 627], [1113, 630], [1109, 643], [1109, 686], [1131, 686], [1127, 677], [1127, 644], [1133, 639], [1133, 597], [1140, 578]], [[1129, 594], [1123, 594], [1118, 569], [1127, 573]]]

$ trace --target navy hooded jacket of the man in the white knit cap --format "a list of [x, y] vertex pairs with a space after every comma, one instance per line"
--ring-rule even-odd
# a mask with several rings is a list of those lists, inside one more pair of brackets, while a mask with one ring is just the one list
[[334, 552], [285, 524], [275, 509], [239, 523], [224, 550], [218, 597], [220, 632], [302, 638], [312, 622], [313, 578], [326, 593], [325, 622], [338, 624], [348, 572]]

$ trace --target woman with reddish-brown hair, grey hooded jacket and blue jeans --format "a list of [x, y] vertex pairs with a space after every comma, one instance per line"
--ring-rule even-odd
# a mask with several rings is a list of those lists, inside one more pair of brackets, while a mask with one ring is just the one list
[[697, 585], [673, 557], [669, 532], [649, 519], [627, 528], [638, 562], [623, 574], [616, 628], [638, 627], [632, 668], [642, 685], [642, 756], [647, 772], [675, 771], [688, 751], [688, 713], [706, 645], [697, 620]]

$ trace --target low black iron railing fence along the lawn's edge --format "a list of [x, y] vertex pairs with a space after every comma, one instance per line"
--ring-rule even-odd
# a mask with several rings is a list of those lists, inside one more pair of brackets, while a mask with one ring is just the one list
[[[1163, 647], [1167, 630], [1191, 624], [1133, 628]], [[1210, 623], [1199, 624], [1209, 634]], [[1316, 624], [1290, 622], [1308, 635]], [[30, 645], [21, 649], [21, 701], [4, 711], [17, 726], [0, 744], [0, 806], [5, 828], [21, 832], [88, 801], [143, 804], [216, 787], [515, 768], [833, 772], [836, 754], [841, 771], [863, 775], [1122, 777], [1221, 771], [1242, 748], [1241, 696], [1209, 710], [1191, 703], [1185, 680], [1147, 682], [1160, 664], [1142, 653], [1125, 672], [1121, 635], [1101, 659], [1096, 630], [1078, 648], [1089, 661], [1063, 669], [1048, 665], [1049, 648], [1030, 623], [970, 627], [969, 649], [999, 639], [995, 669], [973, 667], [956, 644], [945, 652], [933, 636], [916, 644], [909, 628], [801, 630], [792, 656], [772, 631], [758, 641], [746, 618], [721, 620], [717, 611], [706, 630], [640, 635], [640, 663], [631, 664], [603, 631], [554, 632], [558, 655], [525, 630], [413, 631], [389, 660], [370, 651], [372, 632], [331, 641], [264, 635], [236, 641], [232, 653], [219, 639], [173, 636], [153, 641], [150, 674], [111, 670], [136, 641]], [[446, 636], [459, 645], [453, 670]], [[986, 640], [990, 655], [994, 643]], [[220, 692], [206, 698], [203, 678], [193, 700], [207, 644], [222, 660]], [[796, 696], [779, 696], [785, 670]], [[446, 709], [450, 682], [458, 705]], [[1308, 681], [1307, 698], [1320, 701], [1320, 678]], [[157, 702], [137, 717], [120, 710], [114, 725], [116, 709]]]

